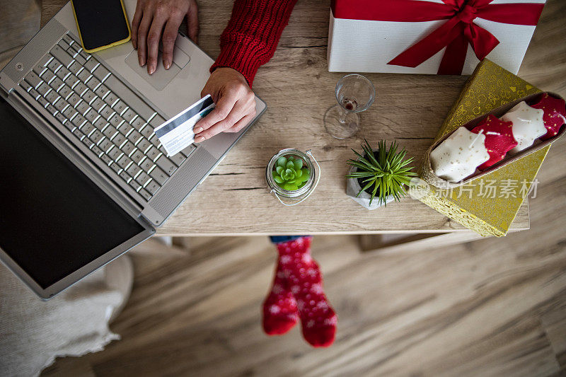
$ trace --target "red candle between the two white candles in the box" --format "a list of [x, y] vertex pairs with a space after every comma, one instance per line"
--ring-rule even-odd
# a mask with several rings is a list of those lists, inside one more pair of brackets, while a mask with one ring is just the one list
[[494, 115], [487, 115], [485, 120], [472, 129], [474, 134], [485, 134], [484, 145], [490, 155], [490, 159], [478, 166], [478, 169], [485, 170], [502, 161], [507, 152], [517, 146], [512, 127], [512, 122], [504, 122]]

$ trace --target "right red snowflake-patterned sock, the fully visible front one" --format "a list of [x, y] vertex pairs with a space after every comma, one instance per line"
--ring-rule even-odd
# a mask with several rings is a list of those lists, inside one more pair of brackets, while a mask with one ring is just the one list
[[311, 257], [311, 239], [301, 237], [278, 243], [277, 250], [299, 308], [305, 340], [314, 347], [328, 347], [334, 342], [337, 316], [324, 294], [320, 269]]

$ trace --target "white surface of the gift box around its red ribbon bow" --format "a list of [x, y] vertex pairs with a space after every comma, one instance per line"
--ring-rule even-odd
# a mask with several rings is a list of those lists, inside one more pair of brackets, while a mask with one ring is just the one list
[[[380, 1], [374, 0], [374, 4], [380, 4]], [[415, 1], [444, 4], [441, 0]], [[342, 8], [344, 6], [359, 6], [362, 12], [364, 7], [364, 4], [360, 4], [359, 1], [333, 1], [328, 33], [328, 71], [437, 74], [446, 47], [415, 68], [392, 65], [388, 62], [446, 23], [447, 18], [423, 22], [335, 18], [335, 13], [340, 12], [336, 10], [335, 3], [341, 3]], [[364, 3], [364, 1], [361, 1], [361, 3]], [[494, 0], [490, 2], [490, 5], [526, 3], [544, 4], [545, 0]], [[337, 14], [337, 16], [340, 16], [340, 14]], [[487, 54], [487, 59], [516, 74], [536, 26], [488, 21], [480, 18], [480, 16], [473, 19], [473, 23], [487, 30], [499, 40], [499, 45]], [[471, 74], [478, 63], [479, 60], [468, 43], [462, 74]]]

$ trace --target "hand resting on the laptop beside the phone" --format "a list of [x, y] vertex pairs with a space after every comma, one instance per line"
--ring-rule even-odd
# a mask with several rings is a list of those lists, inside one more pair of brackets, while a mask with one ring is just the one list
[[189, 37], [196, 43], [199, 21], [195, 0], [137, 0], [136, 13], [132, 20], [132, 45], [137, 49], [139, 65], [144, 66], [147, 63], [148, 74], [153, 74], [157, 67], [162, 32], [163, 66], [165, 69], [171, 67], [173, 47], [185, 16]]

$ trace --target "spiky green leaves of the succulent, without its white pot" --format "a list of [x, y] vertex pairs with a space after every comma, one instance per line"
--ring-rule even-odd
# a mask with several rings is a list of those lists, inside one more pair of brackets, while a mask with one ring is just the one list
[[[362, 183], [365, 183], [362, 190], [359, 190], [358, 195], [363, 191], [370, 189], [371, 198], [369, 204], [375, 197], [379, 199], [380, 204], [386, 204], [386, 198], [393, 195], [396, 201], [404, 197], [407, 192], [405, 185], [408, 185], [412, 176], [416, 173], [410, 171], [413, 158], [405, 160], [407, 151], [403, 149], [397, 152], [398, 145], [393, 141], [389, 150], [386, 148], [386, 141], [379, 141], [378, 151], [374, 153], [367, 140], [364, 140], [366, 145], [362, 145], [364, 155], [354, 151], [357, 156], [356, 160], [348, 160], [348, 165], [357, 168], [356, 171], [346, 175], [346, 178], [362, 178]], [[372, 187], [372, 188], [370, 188]], [[386, 204], [387, 205], [387, 204]]]

